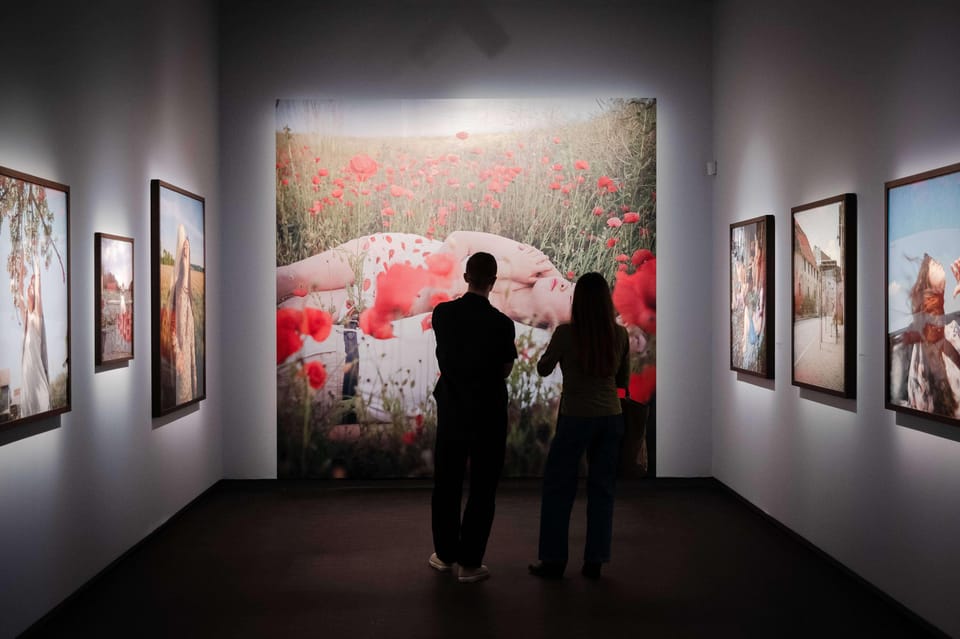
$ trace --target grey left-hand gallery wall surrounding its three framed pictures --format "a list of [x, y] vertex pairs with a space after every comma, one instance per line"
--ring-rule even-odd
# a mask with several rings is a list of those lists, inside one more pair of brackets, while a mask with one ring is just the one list
[[[150, 180], [206, 196], [207, 235], [219, 235], [216, 35], [210, 3], [4, 5], [0, 165], [71, 188], [73, 409], [0, 430], [0, 637], [26, 629], [222, 477], [220, 342], [208, 340], [210, 399], [153, 419], [150, 395]], [[94, 365], [96, 232], [135, 240], [135, 357], [103, 370]], [[218, 242], [206, 250], [217, 273]], [[211, 334], [219, 290], [214, 276]]]

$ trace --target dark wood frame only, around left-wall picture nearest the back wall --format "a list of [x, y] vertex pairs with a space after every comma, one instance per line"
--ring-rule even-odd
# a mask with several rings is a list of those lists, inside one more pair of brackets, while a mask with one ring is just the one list
[[[162, 380], [162, 362], [160, 358], [160, 311], [162, 308], [162, 300], [160, 299], [160, 257], [161, 257], [161, 246], [160, 246], [160, 222], [161, 217], [163, 216], [163, 211], [160, 210], [160, 189], [164, 188], [169, 191], [173, 191], [180, 195], [183, 195], [188, 198], [192, 198], [200, 202], [201, 207], [201, 216], [203, 217], [202, 221], [202, 232], [203, 232], [203, 242], [200, 245], [202, 255], [203, 255], [203, 268], [204, 268], [204, 292], [203, 292], [203, 358], [202, 358], [202, 370], [197, 378], [198, 394], [193, 399], [182, 402], [180, 404], [175, 404], [171, 406], [165, 406], [163, 404], [161, 397], [161, 380]], [[206, 303], [207, 303], [207, 232], [206, 232], [206, 200], [199, 195], [191, 193], [181, 189], [180, 187], [174, 186], [163, 180], [151, 180], [150, 181], [150, 302], [151, 302], [151, 330], [150, 330], [150, 346], [151, 346], [151, 360], [152, 360], [152, 384], [153, 384], [153, 416], [161, 417], [167, 415], [174, 411], [180, 410], [186, 406], [197, 404], [200, 401], [206, 399], [207, 397], [207, 313], [206, 313]]]

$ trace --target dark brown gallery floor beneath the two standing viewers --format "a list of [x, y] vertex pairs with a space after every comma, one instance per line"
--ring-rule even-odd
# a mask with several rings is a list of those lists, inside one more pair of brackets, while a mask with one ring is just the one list
[[427, 566], [427, 483], [221, 482], [28, 636], [931, 636], [710, 480], [621, 483], [604, 577], [540, 581], [538, 488], [502, 484], [492, 578], [459, 584]]

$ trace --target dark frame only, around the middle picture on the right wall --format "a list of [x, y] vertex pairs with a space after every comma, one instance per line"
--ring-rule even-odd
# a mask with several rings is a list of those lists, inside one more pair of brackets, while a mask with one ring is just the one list
[[840, 251], [837, 256], [840, 262], [840, 269], [843, 274], [843, 386], [840, 389], [833, 389], [826, 386], [817, 386], [806, 382], [797, 381], [796, 367], [790, 365], [790, 376], [794, 386], [809, 388], [811, 390], [836, 395], [838, 397], [856, 397], [857, 394], [857, 196], [853, 193], [844, 193], [836, 195], [810, 204], [795, 206], [790, 209], [791, 227], [790, 227], [790, 350], [793, 359], [796, 358], [796, 327], [795, 318], [797, 316], [796, 296], [793, 293], [793, 284], [796, 281], [796, 251], [797, 251], [797, 224], [796, 215], [811, 209], [818, 209], [831, 204], [840, 205], [839, 228]]

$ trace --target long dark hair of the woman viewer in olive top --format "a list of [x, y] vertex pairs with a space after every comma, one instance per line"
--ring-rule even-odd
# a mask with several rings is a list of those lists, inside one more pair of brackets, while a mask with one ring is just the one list
[[588, 375], [613, 375], [616, 320], [610, 285], [600, 273], [586, 273], [573, 289], [573, 344]]

